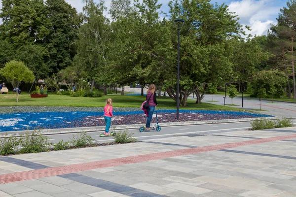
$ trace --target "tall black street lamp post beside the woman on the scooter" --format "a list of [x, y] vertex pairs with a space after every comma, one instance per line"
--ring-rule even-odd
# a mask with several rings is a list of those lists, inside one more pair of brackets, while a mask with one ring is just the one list
[[[180, 95], [179, 95], [179, 80], [180, 80], [180, 29], [184, 25], [184, 20], [182, 19], [177, 19], [174, 20], [175, 22], [175, 27], [178, 30], [178, 71], [177, 71], [177, 120], [179, 120], [179, 105], [180, 105]], [[177, 27], [178, 24], [178, 27]], [[181, 27], [180, 27], [181, 26]]]

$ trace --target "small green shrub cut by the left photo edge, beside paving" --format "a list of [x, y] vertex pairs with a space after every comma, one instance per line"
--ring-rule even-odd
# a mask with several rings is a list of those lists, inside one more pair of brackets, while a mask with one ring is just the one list
[[4, 139], [0, 140], [0, 154], [9, 155], [17, 152], [17, 146], [19, 145], [19, 140], [16, 137], [7, 137], [7, 133]]

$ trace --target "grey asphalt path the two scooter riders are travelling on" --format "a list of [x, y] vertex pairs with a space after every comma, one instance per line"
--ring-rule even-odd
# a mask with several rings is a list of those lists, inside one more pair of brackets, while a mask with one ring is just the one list
[[[168, 126], [162, 127], [161, 131], [145, 131], [140, 132], [139, 129], [129, 129], [128, 132], [134, 133], [134, 137], [138, 140], [147, 140], [147, 139], [155, 139], [162, 137], [170, 137], [174, 135], [182, 135], [182, 134], [211, 134], [211, 133], [219, 133], [219, 132], [230, 132], [230, 131], [242, 131], [248, 130], [251, 128], [249, 122], [235, 122], [235, 123], [215, 123], [215, 124], [204, 124], [204, 125], [186, 125], [186, 126]], [[296, 119], [293, 119], [293, 123], [296, 125]], [[161, 125], [161, 123], [160, 123]], [[118, 132], [118, 130], [113, 130]], [[119, 130], [122, 131], [122, 130]], [[111, 142], [113, 141], [112, 136], [100, 137], [100, 133], [103, 131], [93, 131], [87, 132], [92, 138], [94, 138], [93, 142]], [[57, 143], [60, 140], [70, 141], [74, 135], [77, 133], [63, 133], [63, 134], [52, 134], [47, 135], [52, 143]]]

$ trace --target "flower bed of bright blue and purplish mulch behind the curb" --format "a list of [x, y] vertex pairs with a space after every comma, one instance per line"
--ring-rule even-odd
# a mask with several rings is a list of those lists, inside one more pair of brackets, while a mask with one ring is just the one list
[[[22, 111], [22, 112], [20, 112]], [[145, 124], [147, 116], [139, 108], [113, 109], [113, 125]], [[89, 107], [12, 107], [0, 110], [0, 131], [61, 129], [105, 126], [103, 108]], [[159, 123], [178, 122], [176, 110], [158, 110]], [[180, 122], [270, 117], [241, 111], [180, 110]], [[155, 118], [152, 118], [152, 123]]]

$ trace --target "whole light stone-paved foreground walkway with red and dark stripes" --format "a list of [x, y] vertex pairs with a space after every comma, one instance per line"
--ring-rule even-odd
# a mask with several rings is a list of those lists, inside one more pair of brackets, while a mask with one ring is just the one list
[[296, 128], [203, 134], [0, 157], [0, 197], [296, 197]]

